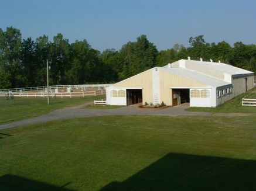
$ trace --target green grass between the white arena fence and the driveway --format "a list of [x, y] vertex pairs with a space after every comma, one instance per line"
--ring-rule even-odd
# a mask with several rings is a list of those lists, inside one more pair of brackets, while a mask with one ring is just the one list
[[50, 105], [47, 105], [47, 98], [14, 98], [6, 100], [0, 97], [0, 124], [36, 117], [55, 109], [79, 105], [104, 97], [50, 98]]

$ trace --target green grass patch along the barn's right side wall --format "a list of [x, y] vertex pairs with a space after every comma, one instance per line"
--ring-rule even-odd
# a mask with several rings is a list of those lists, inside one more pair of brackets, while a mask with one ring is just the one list
[[[217, 106], [215, 108], [211, 107], [189, 107], [186, 110], [189, 112], [220, 112], [220, 113], [256, 113], [255, 106], [242, 106], [242, 98], [244, 96], [249, 95], [250, 98], [255, 95], [255, 93], [251, 93], [256, 89], [252, 89], [247, 93], [243, 93], [234, 99], [229, 100], [221, 106]], [[256, 98], [255, 98], [256, 99]]]

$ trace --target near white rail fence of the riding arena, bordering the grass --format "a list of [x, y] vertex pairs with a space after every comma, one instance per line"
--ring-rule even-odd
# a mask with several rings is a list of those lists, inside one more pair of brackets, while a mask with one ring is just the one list
[[[97, 89], [96, 91], [81, 91], [81, 92], [49, 92], [49, 96], [52, 98], [64, 98], [64, 97], [86, 97], [86, 96], [97, 96], [104, 95], [105, 89]], [[33, 97], [33, 98], [45, 98], [47, 97], [47, 92], [0, 92], [0, 96], [13, 96], [13, 97]]]

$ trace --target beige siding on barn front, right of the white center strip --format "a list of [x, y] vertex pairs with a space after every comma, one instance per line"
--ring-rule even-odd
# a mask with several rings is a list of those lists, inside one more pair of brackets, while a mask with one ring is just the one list
[[171, 87], [206, 87], [206, 84], [194, 81], [189, 78], [180, 77], [170, 72], [160, 71], [160, 100], [166, 105], [172, 105]]

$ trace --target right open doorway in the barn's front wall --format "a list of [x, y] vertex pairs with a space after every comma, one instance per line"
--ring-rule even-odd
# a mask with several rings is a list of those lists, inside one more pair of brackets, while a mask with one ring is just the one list
[[189, 107], [189, 89], [172, 89], [172, 106], [184, 105]]

